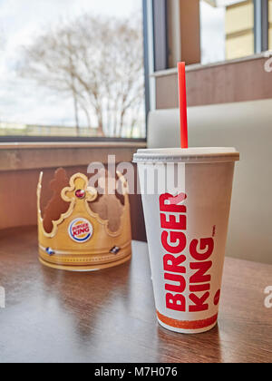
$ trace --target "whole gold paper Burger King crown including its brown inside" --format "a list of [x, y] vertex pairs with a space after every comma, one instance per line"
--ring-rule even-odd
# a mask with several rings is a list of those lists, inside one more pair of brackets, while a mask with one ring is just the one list
[[[82, 173], [69, 180], [55, 171], [53, 197], [44, 209], [43, 173], [37, 188], [39, 259], [44, 266], [71, 271], [93, 271], [131, 259], [131, 213], [128, 184], [121, 173], [122, 199], [98, 195]], [[105, 182], [106, 183], [106, 182]]]

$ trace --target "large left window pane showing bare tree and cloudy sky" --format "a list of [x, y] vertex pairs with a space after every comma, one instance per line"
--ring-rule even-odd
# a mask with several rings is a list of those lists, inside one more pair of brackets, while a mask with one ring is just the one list
[[0, 135], [145, 137], [141, 0], [0, 0]]

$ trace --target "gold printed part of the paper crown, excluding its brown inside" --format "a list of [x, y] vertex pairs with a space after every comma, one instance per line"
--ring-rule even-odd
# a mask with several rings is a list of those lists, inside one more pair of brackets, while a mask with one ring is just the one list
[[[117, 231], [110, 229], [110, 221], [102, 220], [100, 214], [92, 210], [98, 193], [88, 187], [88, 178], [77, 173], [70, 179], [70, 186], [61, 190], [62, 202], [67, 202], [67, 211], [59, 220], [52, 221], [52, 231], [44, 230], [41, 211], [43, 173], [37, 187], [38, 231], [40, 261], [54, 269], [71, 271], [93, 271], [121, 265], [131, 259], [131, 213], [128, 185], [120, 173], [123, 205], [119, 202], [120, 224]], [[102, 196], [105, 197], [105, 196]], [[103, 206], [105, 205], [103, 200]], [[114, 200], [113, 200], [114, 201]], [[107, 202], [107, 201], [106, 201]]]

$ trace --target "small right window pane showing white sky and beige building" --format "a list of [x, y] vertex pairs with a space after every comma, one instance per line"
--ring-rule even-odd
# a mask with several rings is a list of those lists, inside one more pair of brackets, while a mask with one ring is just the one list
[[201, 0], [201, 62], [254, 54], [253, 0]]

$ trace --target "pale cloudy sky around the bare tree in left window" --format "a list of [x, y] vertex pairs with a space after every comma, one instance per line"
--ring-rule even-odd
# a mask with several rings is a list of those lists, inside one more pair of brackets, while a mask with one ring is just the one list
[[0, 122], [73, 125], [73, 101], [16, 74], [20, 48], [46, 28], [84, 13], [130, 17], [141, 0], [0, 0]]

